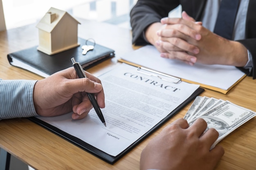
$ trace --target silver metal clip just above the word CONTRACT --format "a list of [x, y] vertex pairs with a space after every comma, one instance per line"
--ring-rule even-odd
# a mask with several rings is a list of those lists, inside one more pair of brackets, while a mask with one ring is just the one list
[[[144, 71], [141, 71], [141, 70], [148, 71], [150, 73], [155, 73], [156, 75], [155, 74], [148, 74], [148, 73], [146, 73]], [[144, 75], [148, 75], [148, 76], [155, 76], [155, 77], [158, 77], [159, 79], [162, 79], [162, 80], [164, 80], [166, 82], [170, 82], [170, 83], [178, 84], [178, 83], [181, 82], [181, 79], [178, 78], [178, 77], [174, 77], [174, 76], [171, 76], [171, 75], [168, 75], [168, 74], [160, 73], [158, 71], [154, 71], [154, 70], [151, 70], [151, 69], [148, 69], [148, 68], [145, 68], [145, 67], [138, 67], [137, 68], [137, 72], [142, 73]], [[169, 77], [169, 78], [173, 79], [173, 81], [170, 81], [168, 79], [164, 79], [164, 78], [160, 77], [159, 75], [163, 75], [165, 77]]]

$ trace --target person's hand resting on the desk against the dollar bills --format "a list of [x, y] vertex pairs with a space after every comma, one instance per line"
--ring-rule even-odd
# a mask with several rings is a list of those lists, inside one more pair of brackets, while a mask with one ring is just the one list
[[218, 132], [211, 128], [204, 133], [206, 128], [203, 119], [191, 126], [184, 119], [175, 120], [144, 148], [140, 170], [213, 170], [224, 149], [216, 146], [210, 151]]

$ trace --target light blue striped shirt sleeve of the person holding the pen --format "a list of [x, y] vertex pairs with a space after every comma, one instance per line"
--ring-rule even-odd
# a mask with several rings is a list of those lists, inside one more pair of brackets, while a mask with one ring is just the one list
[[0, 120], [37, 116], [33, 90], [36, 80], [0, 79]]

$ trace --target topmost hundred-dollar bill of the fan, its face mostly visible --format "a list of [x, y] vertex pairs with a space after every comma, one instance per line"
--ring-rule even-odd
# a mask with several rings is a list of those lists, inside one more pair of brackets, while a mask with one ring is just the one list
[[[199, 117], [207, 122], [207, 129], [215, 128], [219, 132], [219, 137], [211, 148], [215, 147], [219, 141], [229, 135], [236, 128], [255, 117], [256, 113], [252, 110], [237, 106], [229, 101], [218, 105]], [[189, 122], [189, 125], [198, 119]]]

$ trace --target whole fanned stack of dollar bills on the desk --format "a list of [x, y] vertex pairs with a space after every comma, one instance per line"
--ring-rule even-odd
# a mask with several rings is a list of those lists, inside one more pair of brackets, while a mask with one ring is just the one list
[[255, 115], [256, 113], [252, 110], [229, 101], [197, 96], [184, 119], [191, 125], [196, 119], [202, 118], [208, 124], [206, 130], [215, 128], [219, 132], [218, 139], [211, 146], [212, 149], [219, 141]]

